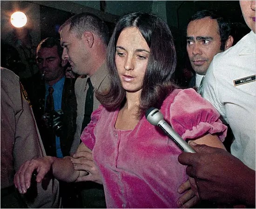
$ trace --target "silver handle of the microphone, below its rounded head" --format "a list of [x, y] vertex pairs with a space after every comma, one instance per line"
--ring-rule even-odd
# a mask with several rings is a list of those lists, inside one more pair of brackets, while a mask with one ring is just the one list
[[165, 121], [161, 120], [158, 123], [158, 126], [164, 131], [164, 133], [174, 141], [174, 143], [184, 152], [192, 152], [196, 153], [195, 150], [189, 146], [189, 144], [180, 137], [179, 134], [177, 134], [172, 127]]

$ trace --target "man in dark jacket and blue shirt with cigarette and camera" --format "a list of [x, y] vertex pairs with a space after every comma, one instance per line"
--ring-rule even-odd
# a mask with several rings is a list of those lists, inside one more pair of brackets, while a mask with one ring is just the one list
[[[75, 78], [65, 78], [59, 40], [43, 39], [37, 46], [36, 62], [44, 85], [38, 86], [37, 105], [33, 105], [36, 121], [47, 155], [69, 155], [76, 129]], [[52, 99], [51, 105], [49, 99]], [[50, 107], [50, 106], [51, 107]]]

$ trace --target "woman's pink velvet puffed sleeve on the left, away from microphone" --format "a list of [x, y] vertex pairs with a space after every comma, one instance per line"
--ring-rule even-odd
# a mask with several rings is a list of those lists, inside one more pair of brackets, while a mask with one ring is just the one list
[[101, 117], [101, 111], [103, 109], [103, 106], [100, 105], [98, 109], [93, 111], [91, 115], [91, 121], [85, 127], [81, 134], [81, 141], [90, 149], [93, 150], [95, 145], [95, 136], [94, 136], [94, 127], [96, 126], [99, 118]]

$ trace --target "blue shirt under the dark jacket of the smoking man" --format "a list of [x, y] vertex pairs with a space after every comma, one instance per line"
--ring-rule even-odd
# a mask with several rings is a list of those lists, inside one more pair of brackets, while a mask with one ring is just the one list
[[[61, 110], [61, 101], [62, 101], [62, 92], [63, 92], [64, 82], [65, 82], [65, 76], [52, 86], [54, 88], [53, 98], [54, 98], [54, 110], [55, 111]], [[47, 96], [49, 94], [49, 91], [48, 91], [49, 87], [50, 86], [47, 83], [45, 83], [45, 88], [46, 88], [45, 101], [47, 100]], [[55, 136], [55, 139], [56, 139], [57, 157], [63, 157], [63, 154], [61, 152], [60, 137]]]

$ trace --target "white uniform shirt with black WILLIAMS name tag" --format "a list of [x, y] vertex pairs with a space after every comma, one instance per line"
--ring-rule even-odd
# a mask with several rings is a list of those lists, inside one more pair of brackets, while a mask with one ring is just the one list
[[230, 125], [231, 154], [255, 170], [256, 35], [251, 31], [235, 46], [217, 54], [205, 76], [202, 96]]

